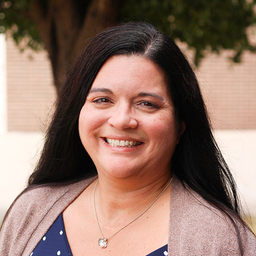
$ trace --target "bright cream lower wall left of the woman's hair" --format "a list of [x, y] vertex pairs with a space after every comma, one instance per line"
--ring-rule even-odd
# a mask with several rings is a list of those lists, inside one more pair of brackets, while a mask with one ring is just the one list
[[0, 133], [0, 224], [6, 210], [25, 188], [41, 150], [43, 135]]

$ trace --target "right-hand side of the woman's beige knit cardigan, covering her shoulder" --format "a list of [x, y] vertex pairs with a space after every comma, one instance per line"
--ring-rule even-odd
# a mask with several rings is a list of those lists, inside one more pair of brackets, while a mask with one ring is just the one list
[[179, 234], [180, 242], [173, 242], [186, 248], [185, 254], [240, 255], [240, 236], [244, 255], [256, 255], [253, 233], [236, 216], [228, 217], [180, 181], [173, 185], [170, 234]]

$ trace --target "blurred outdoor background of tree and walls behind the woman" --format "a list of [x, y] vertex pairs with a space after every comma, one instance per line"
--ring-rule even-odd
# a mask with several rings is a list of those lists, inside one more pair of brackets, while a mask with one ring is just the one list
[[142, 20], [197, 74], [246, 214], [256, 216], [255, 1], [0, 1], [0, 223], [33, 171], [54, 102], [98, 31]]

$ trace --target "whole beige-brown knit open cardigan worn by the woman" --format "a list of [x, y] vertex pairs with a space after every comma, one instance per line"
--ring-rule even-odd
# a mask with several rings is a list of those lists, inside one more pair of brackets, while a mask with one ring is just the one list
[[[1, 256], [29, 256], [54, 220], [95, 178], [27, 191], [11, 207], [0, 232]], [[240, 255], [230, 220], [175, 178], [170, 198], [168, 254]], [[256, 255], [256, 239], [240, 226], [244, 255]], [[136, 255], [131, 248], [131, 255]]]

